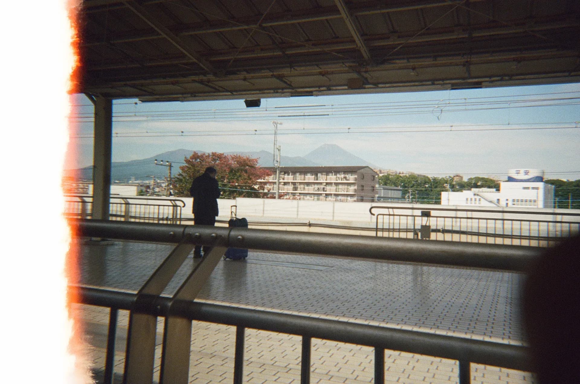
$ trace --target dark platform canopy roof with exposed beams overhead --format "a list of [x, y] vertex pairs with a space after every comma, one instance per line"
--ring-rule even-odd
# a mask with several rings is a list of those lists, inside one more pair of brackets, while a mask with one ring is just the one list
[[84, 0], [75, 92], [143, 101], [580, 81], [578, 0]]

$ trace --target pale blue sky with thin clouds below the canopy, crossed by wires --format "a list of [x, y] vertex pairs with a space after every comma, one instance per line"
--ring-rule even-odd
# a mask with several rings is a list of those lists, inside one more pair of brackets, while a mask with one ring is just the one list
[[[84, 95], [72, 98], [75, 104], [90, 104]], [[277, 120], [282, 122], [278, 145], [285, 156], [303, 156], [327, 143], [383, 169], [502, 176], [508, 169], [522, 167], [543, 169], [546, 177], [580, 178], [578, 83], [270, 98], [263, 99], [259, 108], [245, 108], [242, 100], [136, 101], [115, 101], [114, 113], [124, 115], [117, 120], [125, 121], [114, 122], [114, 161], [143, 159], [179, 148], [272, 152], [272, 120]], [[348, 112], [342, 112], [346, 108], [350, 108]], [[78, 111], [90, 115], [92, 108], [78, 107]], [[185, 115], [160, 121], [162, 111]], [[223, 114], [227, 118], [219, 118]], [[240, 118], [241, 114], [249, 116]], [[208, 119], [199, 121], [205, 115]], [[188, 116], [185, 121], [184, 116]], [[88, 166], [92, 164], [92, 138], [77, 136], [90, 135], [92, 123], [77, 123], [74, 130], [70, 147], [81, 153], [76, 164]], [[207, 136], [209, 131], [220, 136]], [[318, 134], [321, 131], [325, 133]]]

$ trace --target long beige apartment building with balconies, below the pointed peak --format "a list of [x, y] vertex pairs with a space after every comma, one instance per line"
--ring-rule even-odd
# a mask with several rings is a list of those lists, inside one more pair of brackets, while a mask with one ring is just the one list
[[[273, 175], [258, 180], [266, 192], [276, 192], [276, 168], [264, 167]], [[379, 174], [367, 166], [281, 167], [280, 198], [374, 202]], [[272, 193], [273, 195], [273, 193]]]

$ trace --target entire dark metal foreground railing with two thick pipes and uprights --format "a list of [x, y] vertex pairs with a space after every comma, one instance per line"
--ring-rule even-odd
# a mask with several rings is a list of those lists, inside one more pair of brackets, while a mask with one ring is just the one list
[[[71, 220], [70, 222], [77, 227], [75, 233], [81, 236], [177, 244], [172, 253], [162, 262], [137, 294], [89, 287], [76, 287], [71, 290], [73, 300], [111, 308], [105, 367], [106, 383], [112, 382], [113, 377], [113, 359], [111, 356], [115, 352], [115, 324], [119, 309], [131, 310], [128, 331], [129, 334], [135, 333], [134, 337], [128, 338], [125, 356], [126, 362], [132, 361], [132, 365], [128, 365], [129, 363], [125, 365], [125, 380], [129, 384], [143, 382], [143, 380], [148, 382], [150, 379], [148, 376], [153, 374], [155, 343], [147, 332], [151, 332], [151, 330], [155, 332], [157, 316], [166, 318], [161, 356], [161, 376], [180, 378], [177, 380], [180, 383], [187, 382], [188, 377], [189, 355], [185, 356], [187, 352], [184, 351], [189, 350], [187, 335], [191, 335], [191, 320], [213, 321], [237, 326], [234, 384], [241, 384], [243, 378], [244, 332], [247, 327], [302, 335], [301, 381], [305, 383], [309, 382], [310, 377], [310, 346], [313, 337], [374, 347], [375, 383], [377, 384], [384, 382], [385, 349], [458, 360], [460, 384], [466, 384], [470, 380], [470, 363], [530, 370], [527, 348], [524, 346], [338, 320], [316, 319], [293, 314], [196, 303], [193, 301], [195, 294], [192, 297], [189, 297], [189, 294], [181, 297], [180, 292], [187, 293], [201, 289], [206, 278], [203, 276], [209, 276], [211, 270], [215, 268], [217, 261], [225, 251], [224, 247], [468, 266], [470, 268], [516, 272], [526, 270], [538, 258], [540, 254], [538, 248], [477, 243], [415, 242], [408, 239], [266, 231], [235, 227], [220, 228], [203, 225], [150, 224], [106, 220]], [[193, 244], [211, 245], [213, 250], [195, 266], [177, 290], [177, 294], [171, 298], [162, 296], [161, 291], [179, 269], [193, 248]], [[210, 264], [215, 262], [215, 264], [212, 266], [207, 264], [208, 262]], [[149, 286], [155, 289], [151, 290], [148, 288]], [[186, 299], [186, 297], [188, 298]], [[173, 325], [170, 326], [170, 324]], [[179, 330], [184, 330], [183, 334]], [[132, 343], [129, 343], [130, 340]], [[138, 345], [142, 340], [148, 341], [143, 342], [143, 348]], [[137, 344], [133, 345], [133, 343]], [[139, 354], [142, 351], [144, 353]], [[137, 353], [137, 356], [133, 356], [133, 353]], [[135, 364], [135, 361], [141, 357], [148, 363]]]

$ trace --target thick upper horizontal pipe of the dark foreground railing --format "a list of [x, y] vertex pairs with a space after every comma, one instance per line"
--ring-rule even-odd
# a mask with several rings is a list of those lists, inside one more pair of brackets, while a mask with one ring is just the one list
[[418, 242], [412, 239], [106, 220], [70, 220], [80, 236], [189, 243], [286, 253], [462, 266], [524, 272], [541, 250], [501, 244]]

